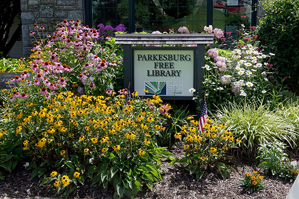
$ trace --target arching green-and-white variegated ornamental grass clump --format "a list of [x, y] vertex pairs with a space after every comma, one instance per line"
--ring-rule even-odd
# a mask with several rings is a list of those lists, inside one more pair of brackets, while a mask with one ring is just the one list
[[259, 144], [282, 141], [294, 146], [296, 129], [269, 106], [257, 102], [228, 103], [221, 106], [214, 115], [216, 121], [230, 126], [233, 135], [242, 140], [240, 155], [257, 156]]

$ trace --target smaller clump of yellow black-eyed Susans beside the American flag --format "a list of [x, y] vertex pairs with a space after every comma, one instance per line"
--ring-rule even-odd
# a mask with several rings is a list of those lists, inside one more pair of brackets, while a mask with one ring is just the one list
[[[196, 174], [196, 179], [199, 181], [204, 170], [211, 169], [225, 160], [228, 150], [240, 146], [242, 141], [236, 139], [224, 124], [217, 126], [209, 118], [204, 124], [203, 131], [198, 130], [198, 121], [192, 116], [187, 120], [189, 122], [181, 126], [181, 131], [174, 134], [174, 138], [183, 145], [184, 157], [174, 158], [170, 165], [175, 162], [188, 164], [190, 174]], [[221, 165], [223, 167], [224, 164]], [[233, 170], [229, 166], [226, 169]], [[229, 177], [227, 173], [226, 176]]]

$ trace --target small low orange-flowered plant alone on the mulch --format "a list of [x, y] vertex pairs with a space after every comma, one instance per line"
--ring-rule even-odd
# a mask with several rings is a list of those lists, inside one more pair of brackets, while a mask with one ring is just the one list
[[253, 171], [253, 173], [246, 173], [239, 184], [240, 186], [245, 187], [249, 194], [259, 192], [266, 187], [264, 177], [260, 176], [257, 171]]

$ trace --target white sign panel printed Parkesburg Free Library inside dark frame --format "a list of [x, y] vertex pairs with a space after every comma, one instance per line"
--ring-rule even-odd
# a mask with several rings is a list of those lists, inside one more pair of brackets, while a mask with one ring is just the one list
[[194, 50], [134, 50], [134, 85], [139, 95], [192, 97]]

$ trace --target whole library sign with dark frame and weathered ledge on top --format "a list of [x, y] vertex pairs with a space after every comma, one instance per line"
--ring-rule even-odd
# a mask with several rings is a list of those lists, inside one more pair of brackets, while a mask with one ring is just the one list
[[201, 95], [204, 49], [213, 34], [116, 34], [115, 43], [123, 44], [125, 88], [163, 100], [192, 100], [190, 88]]

